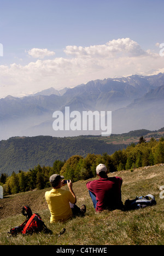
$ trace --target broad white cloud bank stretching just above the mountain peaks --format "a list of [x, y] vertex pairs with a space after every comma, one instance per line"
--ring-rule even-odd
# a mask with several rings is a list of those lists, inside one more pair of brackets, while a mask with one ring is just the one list
[[96, 79], [136, 73], [150, 74], [150, 71], [160, 71], [164, 61], [160, 54], [154, 54], [151, 50], [144, 51], [130, 38], [89, 47], [69, 45], [64, 51], [67, 57], [43, 60], [41, 56], [54, 52], [47, 49], [45, 52], [33, 50], [30, 53], [40, 58], [35, 62], [25, 66], [16, 63], [10, 66], [1, 65], [0, 97], [9, 94], [21, 96], [51, 86], [56, 89], [72, 87]]

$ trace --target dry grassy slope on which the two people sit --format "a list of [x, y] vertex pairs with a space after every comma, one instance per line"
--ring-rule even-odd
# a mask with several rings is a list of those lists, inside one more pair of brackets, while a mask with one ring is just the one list
[[[74, 183], [77, 205], [85, 203], [87, 211], [84, 218], [77, 217], [66, 223], [50, 224], [50, 213], [44, 199], [48, 189], [5, 197], [0, 200], [0, 245], [163, 245], [164, 199], [160, 199], [160, 186], [164, 185], [163, 171], [164, 166], [156, 165], [138, 168], [133, 172], [128, 170], [109, 174], [123, 179], [123, 203], [136, 195], [155, 196], [156, 206], [129, 212], [115, 210], [95, 213], [86, 189], [87, 181]], [[26, 204], [31, 206], [32, 212], [42, 216], [45, 224], [53, 231], [52, 235], [41, 233], [10, 237], [7, 234], [10, 228], [24, 222], [21, 207]], [[66, 228], [65, 234], [58, 237], [63, 228]]]

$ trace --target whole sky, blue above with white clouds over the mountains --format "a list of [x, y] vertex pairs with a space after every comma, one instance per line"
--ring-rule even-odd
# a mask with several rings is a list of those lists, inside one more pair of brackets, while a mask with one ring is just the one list
[[164, 72], [163, 9], [163, 0], [0, 0], [0, 98]]

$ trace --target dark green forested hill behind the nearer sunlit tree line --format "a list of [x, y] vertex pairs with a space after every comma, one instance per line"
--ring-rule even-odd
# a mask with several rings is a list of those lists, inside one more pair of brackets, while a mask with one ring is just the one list
[[[94, 139], [93, 139], [94, 138]], [[122, 144], [108, 144], [98, 137], [51, 136], [13, 137], [0, 141], [0, 174], [11, 175], [14, 171], [28, 171], [37, 166], [52, 166], [55, 160], [68, 160], [72, 155], [86, 156], [88, 153], [113, 154], [115, 150], [125, 148]]]

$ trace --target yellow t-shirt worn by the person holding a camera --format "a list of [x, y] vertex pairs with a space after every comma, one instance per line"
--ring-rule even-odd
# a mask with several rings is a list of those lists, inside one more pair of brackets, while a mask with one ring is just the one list
[[69, 202], [75, 203], [75, 198], [70, 191], [53, 188], [45, 192], [45, 200], [51, 213], [50, 223], [67, 220], [72, 216]]

